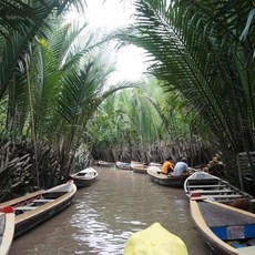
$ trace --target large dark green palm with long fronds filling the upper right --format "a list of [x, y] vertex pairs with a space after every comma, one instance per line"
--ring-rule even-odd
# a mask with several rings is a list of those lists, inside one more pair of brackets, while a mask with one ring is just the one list
[[180, 92], [193, 123], [203, 120], [221, 151], [232, 159], [254, 151], [255, 30], [239, 40], [253, 1], [137, 0], [135, 7], [136, 22], [121, 38], [147, 51], [150, 71]]

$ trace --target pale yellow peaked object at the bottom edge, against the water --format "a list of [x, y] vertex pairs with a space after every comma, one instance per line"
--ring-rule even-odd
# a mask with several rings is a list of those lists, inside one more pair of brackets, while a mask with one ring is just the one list
[[154, 223], [129, 238], [123, 255], [187, 255], [187, 248], [180, 237]]

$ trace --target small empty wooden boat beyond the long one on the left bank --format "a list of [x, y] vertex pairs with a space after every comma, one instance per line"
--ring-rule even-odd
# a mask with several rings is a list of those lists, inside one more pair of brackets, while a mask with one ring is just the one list
[[75, 174], [70, 175], [70, 178], [74, 181], [76, 187], [86, 187], [95, 182], [99, 173], [93, 167], [84, 169]]

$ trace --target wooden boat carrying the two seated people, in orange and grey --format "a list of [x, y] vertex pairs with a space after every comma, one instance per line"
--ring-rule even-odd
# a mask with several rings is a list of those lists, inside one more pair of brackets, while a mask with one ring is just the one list
[[183, 187], [184, 181], [190, 175], [187, 173], [182, 176], [167, 176], [166, 174], [162, 174], [161, 169], [157, 166], [149, 166], [146, 171], [153, 182], [172, 187]]

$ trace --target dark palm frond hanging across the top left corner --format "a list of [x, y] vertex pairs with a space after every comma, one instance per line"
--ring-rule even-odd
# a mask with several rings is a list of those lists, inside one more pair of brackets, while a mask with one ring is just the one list
[[35, 34], [44, 34], [42, 28], [48, 27], [47, 18], [55, 10], [61, 13], [71, 3], [79, 6], [78, 3], [82, 1], [2, 0], [0, 2], [0, 99], [16, 68], [23, 69], [22, 54], [28, 51], [29, 42]]

